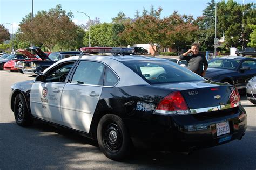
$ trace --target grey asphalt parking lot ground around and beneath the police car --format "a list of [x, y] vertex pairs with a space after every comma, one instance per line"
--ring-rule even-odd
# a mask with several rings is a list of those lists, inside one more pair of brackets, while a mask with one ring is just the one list
[[242, 140], [192, 152], [136, 151], [117, 162], [104, 156], [97, 145], [78, 134], [35, 122], [19, 127], [9, 107], [11, 84], [34, 77], [0, 71], [0, 169], [256, 169], [256, 105], [241, 92], [247, 112]]

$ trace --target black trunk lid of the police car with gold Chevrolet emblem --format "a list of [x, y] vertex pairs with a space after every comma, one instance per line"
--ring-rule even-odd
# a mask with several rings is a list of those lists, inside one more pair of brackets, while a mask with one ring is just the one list
[[215, 82], [186, 82], [161, 85], [161, 87], [178, 89], [183, 95], [191, 113], [216, 111], [234, 107], [235, 88]]

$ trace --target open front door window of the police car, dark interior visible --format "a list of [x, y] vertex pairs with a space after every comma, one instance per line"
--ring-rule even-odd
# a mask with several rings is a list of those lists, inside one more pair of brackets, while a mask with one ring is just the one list
[[65, 82], [66, 76], [69, 74], [74, 61], [63, 63], [51, 69], [45, 76], [45, 82]]

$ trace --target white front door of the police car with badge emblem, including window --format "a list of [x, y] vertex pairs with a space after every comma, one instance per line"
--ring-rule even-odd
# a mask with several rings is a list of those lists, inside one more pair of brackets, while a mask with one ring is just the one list
[[46, 121], [62, 124], [60, 99], [66, 76], [75, 62], [58, 65], [45, 74], [44, 82], [33, 83], [30, 93], [30, 106], [33, 116]]

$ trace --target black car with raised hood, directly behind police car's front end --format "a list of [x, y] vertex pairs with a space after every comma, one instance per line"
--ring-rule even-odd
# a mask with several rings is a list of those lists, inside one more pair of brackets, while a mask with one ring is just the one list
[[[30, 47], [28, 49], [31, 49], [38, 56], [42, 58], [43, 52], [41, 51], [40, 48]], [[24, 74], [37, 75], [59, 60], [68, 58], [70, 56], [76, 56], [76, 55], [82, 55], [82, 54], [83, 54], [82, 52], [78, 52], [78, 51], [52, 52], [49, 56], [43, 56], [42, 61], [26, 62], [23, 72]]]

